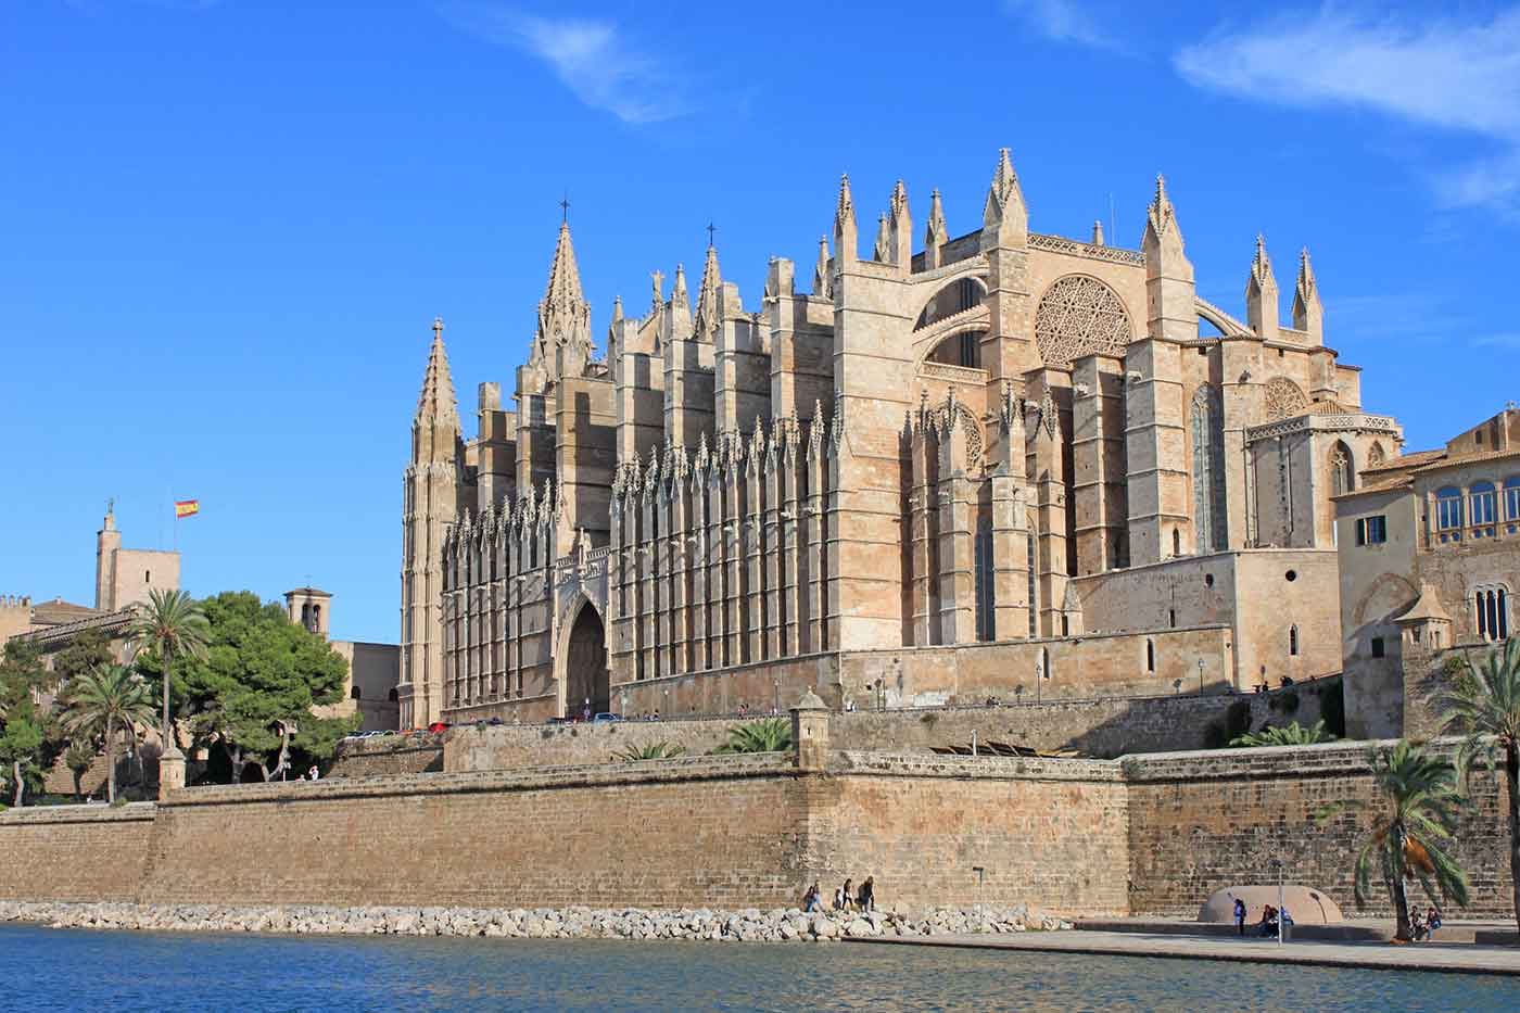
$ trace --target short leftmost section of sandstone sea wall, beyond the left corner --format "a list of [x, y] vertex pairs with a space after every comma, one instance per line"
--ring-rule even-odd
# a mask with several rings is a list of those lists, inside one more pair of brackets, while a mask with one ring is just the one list
[[135, 802], [0, 814], [0, 897], [137, 900], [154, 812]]

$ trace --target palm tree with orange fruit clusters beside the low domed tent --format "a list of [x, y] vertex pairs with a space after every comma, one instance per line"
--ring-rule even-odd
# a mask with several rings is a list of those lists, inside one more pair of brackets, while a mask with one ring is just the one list
[[1366, 903], [1376, 859], [1398, 920], [1394, 940], [1408, 943], [1412, 932], [1406, 881], [1418, 881], [1432, 903], [1439, 891], [1444, 899], [1467, 905], [1467, 873], [1446, 852], [1461, 802], [1456, 768], [1404, 739], [1391, 750], [1374, 748], [1368, 759], [1380, 802], [1350, 799], [1333, 803], [1319, 811], [1319, 820], [1371, 808], [1366, 843], [1356, 855], [1356, 903]]

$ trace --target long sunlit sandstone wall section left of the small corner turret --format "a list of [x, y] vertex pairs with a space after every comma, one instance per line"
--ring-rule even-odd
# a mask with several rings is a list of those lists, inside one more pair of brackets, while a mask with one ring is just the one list
[[801, 878], [798, 809], [780, 756], [192, 788], [160, 806], [143, 896], [780, 905]]

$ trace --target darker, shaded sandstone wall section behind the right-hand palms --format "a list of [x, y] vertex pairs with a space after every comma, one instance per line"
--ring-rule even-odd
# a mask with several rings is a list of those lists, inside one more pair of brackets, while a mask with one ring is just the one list
[[[1318, 887], [1347, 914], [1365, 815], [1316, 821], [1332, 802], [1374, 799], [1368, 744], [1132, 756], [1129, 783], [1134, 914], [1193, 916], [1202, 899], [1233, 884], [1274, 882], [1268, 862], [1287, 862], [1290, 882]], [[1502, 788], [1479, 779], [1456, 834], [1471, 878], [1464, 916], [1512, 916]], [[1380, 885], [1365, 914], [1389, 914]]]

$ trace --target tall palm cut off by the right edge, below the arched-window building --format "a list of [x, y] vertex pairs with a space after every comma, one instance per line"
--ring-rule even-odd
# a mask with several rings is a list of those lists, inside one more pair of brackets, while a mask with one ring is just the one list
[[1464, 782], [1474, 767], [1493, 768], [1503, 757], [1509, 795], [1509, 876], [1515, 925], [1520, 926], [1520, 639], [1509, 639], [1503, 654], [1490, 649], [1484, 666], [1465, 663], [1450, 689], [1436, 700], [1442, 735], [1461, 735], [1458, 768]]

